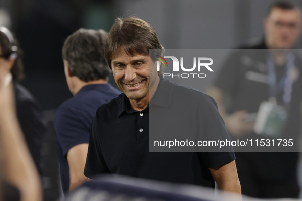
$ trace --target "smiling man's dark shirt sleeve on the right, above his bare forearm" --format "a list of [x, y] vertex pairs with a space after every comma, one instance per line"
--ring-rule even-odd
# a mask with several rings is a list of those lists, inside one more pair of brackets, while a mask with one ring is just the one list
[[[199, 108], [199, 121], [202, 122], [200, 139], [207, 142], [229, 140], [230, 137], [225, 128], [224, 121], [219, 114], [217, 104], [214, 99], [204, 94], [204, 98]], [[221, 149], [218, 146], [209, 146], [198, 152], [207, 167], [217, 167], [235, 160], [233, 147]]]

